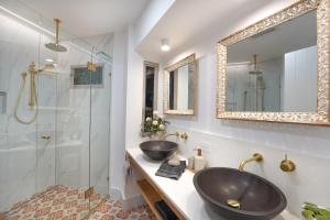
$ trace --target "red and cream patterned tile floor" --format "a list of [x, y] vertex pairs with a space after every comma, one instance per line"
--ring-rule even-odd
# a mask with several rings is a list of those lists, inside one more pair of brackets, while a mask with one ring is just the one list
[[[30, 199], [15, 204], [9, 211], [0, 213], [1, 220], [154, 220], [146, 206], [124, 211], [121, 201], [95, 194], [85, 199], [84, 189], [53, 186]], [[92, 209], [95, 207], [95, 209]], [[91, 215], [89, 215], [91, 209]]]

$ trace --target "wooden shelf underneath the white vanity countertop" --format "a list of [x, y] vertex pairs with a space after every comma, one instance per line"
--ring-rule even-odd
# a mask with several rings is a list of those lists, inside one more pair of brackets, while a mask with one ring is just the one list
[[163, 220], [155, 207], [155, 202], [162, 200], [161, 196], [146, 179], [138, 180], [136, 185], [145, 202], [148, 205], [152, 212], [156, 216], [157, 220]]

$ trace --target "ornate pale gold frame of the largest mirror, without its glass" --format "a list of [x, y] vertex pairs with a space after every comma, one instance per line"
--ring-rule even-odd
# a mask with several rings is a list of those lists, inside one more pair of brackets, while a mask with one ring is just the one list
[[[270, 15], [228, 37], [218, 42], [217, 47], [217, 118], [238, 119], [268, 122], [287, 122], [304, 124], [330, 125], [329, 117], [329, 53], [330, 53], [330, 0], [300, 0], [284, 10]], [[226, 78], [227, 78], [227, 47], [245, 40], [267, 29], [290, 21], [310, 11], [317, 11], [317, 69], [318, 98], [317, 112], [231, 112], [226, 111]]]

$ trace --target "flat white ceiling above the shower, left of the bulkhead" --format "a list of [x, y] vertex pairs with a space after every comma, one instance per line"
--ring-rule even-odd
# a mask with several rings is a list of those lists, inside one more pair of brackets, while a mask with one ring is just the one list
[[19, 0], [47, 20], [59, 18], [63, 28], [84, 37], [111, 33], [132, 24], [151, 0]]

